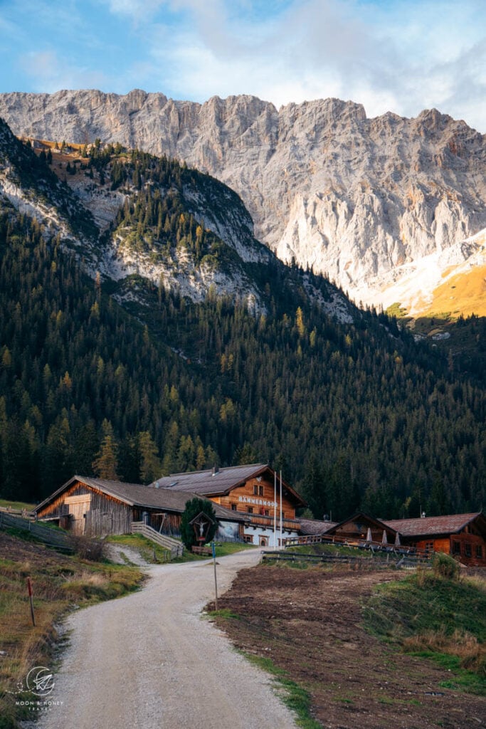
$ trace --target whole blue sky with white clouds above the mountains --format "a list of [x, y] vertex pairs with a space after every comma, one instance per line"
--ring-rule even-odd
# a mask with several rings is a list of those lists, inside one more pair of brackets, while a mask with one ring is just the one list
[[486, 133], [486, 0], [0, 0], [0, 93], [336, 97]]

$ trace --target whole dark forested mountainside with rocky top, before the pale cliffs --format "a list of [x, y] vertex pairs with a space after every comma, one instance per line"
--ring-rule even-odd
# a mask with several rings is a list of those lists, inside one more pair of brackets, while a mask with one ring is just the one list
[[0, 122], [2, 495], [111, 448], [133, 483], [271, 462], [316, 516], [480, 507], [484, 319], [444, 355], [279, 260], [213, 176], [68, 131]]

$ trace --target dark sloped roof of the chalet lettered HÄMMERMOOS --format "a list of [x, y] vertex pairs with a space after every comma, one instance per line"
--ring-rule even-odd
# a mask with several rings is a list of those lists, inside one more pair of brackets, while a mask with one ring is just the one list
[[[170, 489], [171, 491], [192, 491], [194, 494], [203, 496], [222, 496], [229, 494], [233, 488], [243, 486], [248, 478], [255, 478], [269, 471], [274, 477], [275, 472], [268, 464], [256, 463], [246, 466], [230, 466], [220, 469], [207, 469], [205, 471], [189, 471], [184, 473], [173, 473], [170, 476], [157, 478], [151, 484], [158, 484], [159, 488]], [[305, 506], [302, 496], [297, 494], [288, 483], [282, 480], [283, 488], [294, 497], [299, 505]]]

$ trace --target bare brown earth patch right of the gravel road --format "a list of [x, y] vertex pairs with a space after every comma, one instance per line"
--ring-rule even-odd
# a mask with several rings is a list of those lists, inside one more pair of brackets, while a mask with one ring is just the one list
[[469, 729], [486, 725], [486, 698], [444, 687], [451, 674], [393, 650], [361, 628], [361, 601], [396, 571], [239, 572], [216, 622], [246, 652], [271, 658], [307, 688], [313, 716], [332, 729]]

